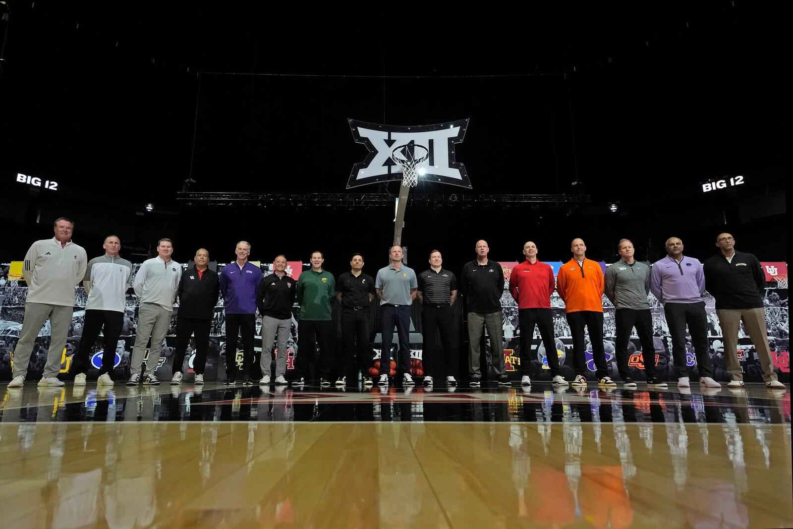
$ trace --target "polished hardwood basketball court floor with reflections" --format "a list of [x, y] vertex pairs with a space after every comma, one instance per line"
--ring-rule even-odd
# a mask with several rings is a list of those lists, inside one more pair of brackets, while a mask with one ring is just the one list
[[0, 389], [5, 527], [791, 527], [790, 390]]

